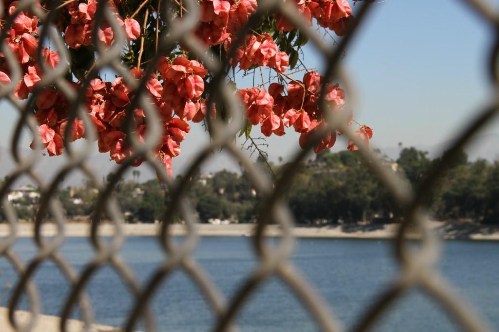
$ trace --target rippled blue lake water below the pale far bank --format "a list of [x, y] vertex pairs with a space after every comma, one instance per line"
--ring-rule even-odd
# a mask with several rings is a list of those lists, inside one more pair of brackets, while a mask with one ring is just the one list
[[[18, 239], [15, 249], [24, 261], [35, 253], [32, 240], [27, 238]], [[93, 255], [86, 238], [67, 238], [62, 253], [79, 270]], [[495, 330], [499, 330], [498, 253], [499, 242], [447, 241], [440, 265], [442, 274]], [[122, 256], [143, 281], [163, 259], [156, 240], [150, 237], [129, 237]], [[228, 297], [256, 264], [247, 237], [203, 238], [195, 257]], [[386, 240], [300, 239], [294, 263], [346, 327], [354, 325], [397, 273], [391, 242]], [[15, 284], [16, 275], [4, 258], [0, 269], [3, 294], [6, 282]], [[58, 315], [61, 299], [68, 293], [65, 278], [49, 262], [39, 267], [35, 278], [43, 313]], [[132, 306], [131, 295], [112, 268], [103, 267], [94, 275], [88, 293], [98, 323], [123, 324]], [[0, 306], [5, 306], [6, 301], [1, 300]], [[165, 332], [210, 331], [214, 324], [210, 307], [182, 271], [175, 272], [162, 285], [153, 307], [158, 325]], [[277, 278], [253, 294], [238, 324], [243, 332], [318, 331], [299, 300]], [[415, 290], [395, 303], [376, 331], [459, 331], [459, 327], [431, 297]]]

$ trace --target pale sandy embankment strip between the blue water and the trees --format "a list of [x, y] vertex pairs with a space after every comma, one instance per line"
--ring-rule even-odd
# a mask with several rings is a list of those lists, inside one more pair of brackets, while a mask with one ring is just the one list
[[[445, 239], [473, 239], [473, 240], [499, 240], [499, 227], [490, 225], [478, 225], [472, 223], [448, 223], [440, 221], [429, 221], [428, 225]], [[200, 236], [250, 236], [255, 224], [227, 224], [214, 225], [199, 223], [195, 225]], [[326, 226], [296, 226], [291, 232], [296, 237], [322, 237], [322, 238], [392, 238], [396, 235], [399, 224], [343, 224]], [[33, 236], [33, 224], [19, 223], [16, 226], [17, 237]], [[186, 226], [174, 224], [170, 227], [172, 235], [182, 236], [186, 234]], [[124, 234], [127, 236], [155, 236], [159, 233], [160, 225], [152, 223], [130, 223], [123, 224]], [[88, 223], [65, 223], [65, 236], [88, 236], [90, 224]], [[6, 223], [0, 224], [0, 237], [10, 234], [10, 226]], [[43, 236], [54, 236], [57, 228], [53, 223], [42, 225]], [[99, 226], [98, 233], [101, 236], [111, 236], [115, 233], [112, 224], [104, 223]], [[267, 225], [265, 227], [267, 236], [280, 236], [282, 230], [278, 225]], [[415, 230], [408, 232], [409, 237], [417, 237]]]

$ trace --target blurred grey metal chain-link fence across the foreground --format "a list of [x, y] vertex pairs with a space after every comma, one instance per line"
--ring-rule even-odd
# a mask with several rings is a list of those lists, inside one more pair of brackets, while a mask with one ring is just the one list
[[[177, 2], [177, 1], [172, 1]], [[339, 60], [343, 56], [343, 50], [348, 48], [348, 45], [358, 30], [361, 30], [364, 17], [369, 14], [371, 3], [362, 2], [356, 9], [356, 20], [350, 25], [346, 35], [340, 39], [339, 45], [329, 45], [324, 43], [313, 31], [312, 28], [306, 24], [302, 17], [297, 13], [295, 7], [291, 5], [292, 1], [282, 2], [280, 0], [265, 0], [259, 1], [258, 9], [250, 17], [248, 25], [243, 29], [243, 32], [252, 29], [258, 23], [258, 18], [268, 11], [280, 12], [284, 17], [291, 21], [300, 30], [300, 33], [306, 34], [309, 42], [313, 43], [320, 54], [326, 60], [327, 68], [321, 73], [328, 81], [333, 77], [340, 77], [343, 82], [348, 83], [346, 77], [339, 66]], [[470, 7], [470, 15], [480, 15], [481, 19], [487, 21], [493, 28], [494, 35], [491, 40], [494, 42], [493, 52], [489, 55], [488, 66], [490, 68], [490, 75], [497, 91], [499, 84], [497, 68], [497, 58], [499, 50], [499, 17], [495, 11], [491, 10], [488, 4], [480, 0], [466, 0], [462, 1]], [[3, 2], [2, 2], [3, 3]], [[290, 259], [291, 252], [294, 247], [294, 238], [291, 233], [293, 226], [293, 216], [286, 206], [285, 194], [289, 188], [291, 179], [295, 175], [298, 165], [304, 161], [309, 151], [313, 149], [316, 142], [321, 139], [321, 135], [330, 132], [331, 130], [340, 130], [348, 137], [350, 137], [357, 145], [362, 146], [362, 139], [359, 139], [351, 129], [342, 124], [341, 114], [332, 113], [331, 120], [328, 127], [324, 128], [322, 132], [317, 132], [311, 140], [306, 143], [306, 146], [300, 153], [296, 155], [291, 162], [291, 166], [286, 168], [284, 174], [279, 177], [277, 182], [273, 184], [270, 177], [258, 169], [247, 156], [241, 151], [240, 147], [236, 146], [234, 136], [241, 130], [240, 119], [242, 118], [241, 107], [234, 99], [234, 91], [230, 85], [227, 85], [225, 78], [228, 71], [228, 66], [224, 63], [214, 61], [214, 57], [207, 55], [208, 53], [200, 47], [195, 38], [193, 31], [198, 24], [198, 4], [194, 0], [184, 0], [186, 12], [182, 20], [168, 22], [169, 29], [160, 38], [158, 53], [162, 50], [169, 49], [172, 45], [176, 45], [179, 41], [188, 47], [191, 52], [197, 54], [200, 61], [203, 62], [205, 67], [213, 73], [209, 93], [213, 101], [221, 100], [224, 103], [226, 111], [232, 117], [232, 121], [227, 123], [223, 120], [207, 118], [210, 127], [211, 139], [207, 142], [203, 149], [197, 154], [194, 161], [188, 166], [185, 176], [177, 181], [169, 180], [168, 174], [165, 171], [164, 165], [161, 165], [149, 151], [157, 144], [158, 137], [161, 135], [161, 127], [156, 125], [158, 123], [158, 116], [154, 108], [145, 97], [144, 91], [147, 90], [146, 80], [137, 81], [131, 79], [128, 69], [126, 69], [121, 62], [117, 62], [121, 56], [121, 45], [125, 43], [125, 35], [120, 26], [113, 20], [112, 11], [104, 2], [99, 2], [95, 12], [97, 21], [108, 20], [112, 29], [114, 30], [114, 40], [109, 48], [104, 48], [101, 43], [96, 43], [97, 62], [91, 69], [96, 73], [102, 68], [111, 68], [119, 76], [123, 77], [126, 84], [134, 91], [135, 99], [131, 102], [129, 109], [140, 108], [144, 110], [146, 116], [150, 119], [150, 126], [148, 127], [148, 134], [143, 140], [136, 139], [134, 135], [129, 135], [129, 144], [133, 148], [133, 155], [125, 159], [118, 171], [114, 174], [109, 182], [103, 184], [99, 177], [96, 175], [92, 165], [89, 164], [87, 157], [90, 150], [93, 149], [93, 141], [95, 140], [95, 132], [87, 129], [86, 138], [89, 142], [88, 145], [75, 150], [66, 138], [64, 146], [65, 153], [69, 156], [64, 167], [61, 168], [57, 176], [50, 183], [47, 183], [43, 176], [40, 176], [37, 169], [37, 160], [40, 155], [41, 143], [35, 140], [38, 151], [33, 152], [30, 156], [25, 157], [19, 153], [20, 146], [20, 133], [27, 128], [33, 133], [33, 137], [37, 137], [38, 129], [35, 122], [33, 113], [35, 97], [42, 93], [42, 88], [34, 89], [26, 103], [21, 103], [14, 97], [15, 84], [13, 82], [19, 81], [24, 73], [19, 71], [18, 59], [10, 51], [6, 42], [6, 34], [8, 27], [16, 24], [14, 18], [22, 10], [30, 10], [40, 21], [44, 24], [54, 21], [58, 5], [62, 2], [53, 1], [51, 10], [45, 10], [36, 5], [34, 0], [22, 0], [16, 6], [17, 10], [11, 13], [11, 16], [2, 21], [1, 38], [5, 42], [1, 45], [6, 66], [10, 73], [10, 83], [3, 82], [4, 84], [0, 89], [1, 98], [8, 100], [10, 104], [19, 112], [19, 121], [16, 124], [12, 144], [10, 146], [10, 154], [15, 160], [16, 165], [10, 171], [6, 182], [3, 184], [0, 197], [2, 202], [2, 209], [6, 216], [6, 220], [10, 226], [10, 233], [5, 238], [0, 240], [0, 255], [5, 258], [11, 266], [17, 271], [19, 275], [18, 282], [13, 285], [10, 303], [9, 303], [9, 319], [11, 324], [15, 327], [16, 331], [30, 331], [36, 316], [40, 312], [39, 295], [36, 288], [34, 274], [40, 265], [46, 261], [52, 261], [67, 278], [67, 282], [71, 285], [71, 291], [67, 298], [60, 299], [64, 303], [63, 311], [61, 312], [62, 321], [60, 324], [61, 331], [66, 329], [66, 320], [70, 317], [71, 310], [76, 306], [81, 311], [82, 320], [86, 323], [84, 331], [89, 331], [91, 323], [93, 322], [92, 303], [86, 294], [86, 287], [91, 282], [92, 276], [96, 273], [97, 269], [101, 266], [112, 266], [118, 271], [120, 277], [126, 285], [129, 286], [134, 296], [133, 310], [125, 323], [125, 331], [132, 331], [136, 325], [137, 320], [144, 319], [146, 322], [147, 331], [158, 331], [155, 324], [155, 318], [149, 308], [151, 298], [157, 292], [159, 285], [168, 279], [174, 269], [181, 269], [185, 271], [206, 297], [209, 305], [212, 307], [217, 317], [216, 326], [212, 327], [213, 331], [236, 331], [235, 317], [240, 311], [244, 310], [243, 305], [248, 300], [249, 296], [254, 290], [271, 276], [279, 277], [286, 283], [292, 292], [304, 303], [304, 306], [309, 310], [318, 326], [323, 331], [342, 331], [342, 325], [335, 318], [333, 310], [331, 310], [325, 301], [322, 300], [320, 294], [317, 294], [313, 286], [308, 284]], [[169, 7], [170, 1], [160, 1], [164, 8]], [[177, 2], [178, 4], [178, 2]], [[1, 3], [0, 3], [1, 5]], [[0, 10], [4, 11], [4, 8]], [[165, 17], [169, 17], [166, 14]], [[97, 33], [93, 31], [91, 33]], [[64, 41], [60, 35], [57, 34], [56, 29], [43, 29], [40, 33], [40, 40], [49, 38], [52, 45], [57, 47], [60, 53], [61, 63], [69, 63], [69, 53], [66, 50]], [[95, 37], [97, 39], [97, 37]], [[41, 51], [39, 51], [41, 52]], [[235, 48], [234, 48], [235, 52]], [[42, 59], [39, 56], [39, 59]], [[153, 59], [152, 62], [158, 61]], [[74, 120], [76, 117], [81, 119], [86, 128], [91, 128], [91, 120], [86, 116], [88, 111], [85, 110], [83, 100], [85, 98], [86, 89], [75, 90], [64, 79], [63, 75], [66, 74], [66, 66], [57, 66], [55, 69], [50, 70], [46, 64], [41, 60], [37, 64], [44, 72], [42, 77], [42, 84], [44, 86], [56, 86], [62, 92], [68, 101], [70, 107], [69, 118]], [[151, 67], [152, 68], [152, 67]], [[90, 85], [92, 75], [83, 78], [81, 84], [84, 87]], [[324, 84], [325, 86], [325, 84]], [[324, 89], [324, 86], [322, 87]], [[353, 95], [352, 87], [346, 86], [345, 90]], [[324, 103], [324, 98], [321, 98], [320, 103]], [[325, 105], [321, 105], [325, 108]], [[446, 170], [446, 165], [452, 160], [453, 156], [459, 152], [470, 137], [480, 130], [487, 122], [492, 119], [498, 109], [497, 96], [493, 96], [490, 100], [490, 105], [483, 110], [476, 112], [474, 118], [469, 122], [465, 131], [460, 134], [460, 137], [455, 141], [452, 148], [443, 158], [442, 162], [432, 169], [431, 173], [424, 180], [417, 192], [413, 192], [391, 171], [383, 167], [381, 161], [367, 149], [361, 149], [359, 152], [362, 156], [368, 159], [369, 166], [377, 174], [386, 189], [389, 191], [394, 201], [402, 207], [404, 211], [404, 222], [393, 242], [395, 246], [396, 259], [400, 265], [400, 272], [396, 281], [391, 284], [382, 294], [379, 295], [377, 301], [368, 308], [366, 315], [359, 318], [354, 331], [370, 331], [373, 324], [380, 319], [386, 312], [388, 306], [393, 303], [407, 290], [415, 287], [424, 288], [431, 295], [433, 295], [451, 314], [451, 317], [461, 325], [466, 331], [489, 331], [482, 320], [478, 319], [474, 311], [471, 310], [465, 303], [458, 299], [456, 292], [449, 286], [446, 280], [437, 272], [436, 262], [440, 255], [440, 240], [435, 234], [432, 233], [430, 228], [425, 224], [425, 198], [434, 189], [436, 179], [441, 177]], [[128, 119], [131, 116], [127, 117]], [[67, 135], [69, 137], [69, 135]], [[210, 157], [211, 152], [216, 148], [223, 147], [228, 151], [232, 158], [239, 162], [248, 172], [254, 188], [259, 193], [261, 200], [261, 209], [258, 216], [256, 231], [254, 233], [253, 244], [258, 257], [258, 264], [256, 268], [247, 276], [244, 284], [237, 290], [235, 296], [229, 301], [218, 291], [215, 283], [210, 279], [203, 268], [196, 262], [193, 252], [198, 243], [198, 234], [196, 232], [195, 223], [197, 222], [192, 207], [185, 199], [189, 191], [189, 179], [196, 174], [200, 165], [206, 162]], [[35, 146], [36, 148], [36, 146]], [[124, 242], [124, 231], [122, 224], [122, 217], [120, 214], [119, 202], [116, 201], [112, 195], [113, 188], [119, 181], [121, 175], [131, 167], [134, 160], [143, 158], [146, 163], [153, 167], [160, 178], [163, 178], [167, 183], [170, 193], [170, 202], [168, 203], [168, 213], [165, 220], [161, 223], [161, 229], [158, 233], [158, 238], [162, 245], [162, 250], [166, 253], [164, 261], [158, 264], [157, 269], [146, 284], [141, 284], [134, 276], [133, 271], [127, 265], [127, 262], [122, 260], [120, 256], [120, 249]], [[367, 167], [367, 166], [366, 166]], [[89, 180], [91, 180], [99, 190], [99, 198], [95, 206], [94, 220], [99, 220], [98, 216], [106, 214], [112, 221], [115, 227], [115, 234], [111, 240], [103, 240], [99, 236], [99, 222], [93, 222], [91, 225], [91, 243], [95, 249], [93, 259], [81, 272], [76, 272], [71, 262], [68, 261], [59, 251], [59, 248], [64, 240], [64, 217], [61, 209], [60, 202], [56, 196], [59, 183], [65, 175], [70, 172], [78, 170], [83, 172]], [[8, 188], [12, 183], [21, 176], [28, 176], [41, 190], [40, 208], [37, 216], [33, 222], [34, 239], [38, 246], [37, 254], [35, 257], [25, 263], [21, 261], [18, 254], [13, 249], [13, 244], [18, 236], [17, 232], [17, 216], [11, 203], [7, 200]], [[49, 215], [51, 221], [57, 226], [57, 233], [54, 237], [44, 238], [41, 234], [42, 223], [45, 215]], [[174, 222], [174, 216], [180, 215], [182, 220], [185, 221], [187, 235], [182, 242], [175, 241], [169, 235], [169, 225]], [[97, 217], [95, 217], [97, 216]], [[271, 246], [264, 240], [264, 230], [268, 223], [276, 223], [281, 229], [281, 240], [277, 245]], [[421, 246], [417, 251], [409, 250], [405, 234], [408, 230], [408, 225], [414, 225], [421, 234]], [[33, 314], [31, 320], [26, 324], [20, 324], [16, 321], [14, 310], [18, 307], [18, 303], [24, 294], [27, 295], [29, 302], [29, 310]]]

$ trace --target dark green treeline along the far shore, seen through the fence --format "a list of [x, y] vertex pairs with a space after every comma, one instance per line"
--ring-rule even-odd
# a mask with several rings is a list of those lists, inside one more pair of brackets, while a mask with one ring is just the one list
[[[382, 160], [385, 167], [416, 189], [440, 162], [439, 158], [430, 160], [426, 152], [413, 147], [401, 149], [396, 161], [386, 157]], [[271, 167], [278, 179], [289, 165]], [[170, 193], [158, 180], [139, 183], [139, 176], [136, 171], [134, 181], [119, 182], [113, 193], [124, 221], [161, 220], [167, 213], [165, 207], [171, 199]], [[68, 219], [88, 220], [98, 191], [87, 182], [81, 188], [60, 189], [58, 198]], [[191, 179], [187, 198], [200, 221], [253, 222], [259, 211], [258, 192], [244, 172], [224, 170], [198, 175]], [[298, 223], [396, 222], [401, 218], [399, 208], [383, 184], [357, 153], [349, 151], [326, 150], [315, 160], [300, 165], [289, 184], [286, 200]], [[445, 176], [438, 180], [426, 203], [435, 220], [498, 223], [499, 162], [469, 162], [461, 151], [448, 165]], [[36, 204], [29, 202], [15, 202], [14, 207], [19, 218], [25, 220], [32, 220], [37, 211]], [[2, 217], [0, 214], [0, 220]]]

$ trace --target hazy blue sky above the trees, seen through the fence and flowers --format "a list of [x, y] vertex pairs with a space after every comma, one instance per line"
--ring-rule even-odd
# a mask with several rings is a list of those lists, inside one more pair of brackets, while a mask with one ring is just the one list
[[[487, 75], [491, 30], [464, 2], [385, 0], [373, 5], [342, 64], [356, 88], [354, 117], [373, 128], [374, 145], [421, 146], [452, 139], [493, 94]], [[488, 2], [499, 8], [499, 0]], [[306, 65], [320, 71], [317, 52], [307, 47], [305, 54]], [[4, 103], [2, 111], [5, 146], [15, 112]], [[496, 132], [497, 123], [487, 132]], [[185, 157], [207, 140], [203, 130], [193, 126], [182, 144]], [[254, 128], [253, 136], [258, 133]], [[298, 146], [298, 137], [291, 129], [267, 142], [271, 156], [286, 157]], [[346, 144], [337, 142], [341, 148]]]

